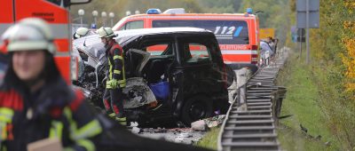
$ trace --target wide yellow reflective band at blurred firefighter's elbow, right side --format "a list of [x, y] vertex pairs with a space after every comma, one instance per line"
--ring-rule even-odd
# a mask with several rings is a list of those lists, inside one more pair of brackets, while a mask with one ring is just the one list
[[98, 120], [92, 120], [90, 123], [85, 124], [78, 131], [75, 131], [73, 139], [84, 139], [98, 135], [102, 131], [101, 125]]

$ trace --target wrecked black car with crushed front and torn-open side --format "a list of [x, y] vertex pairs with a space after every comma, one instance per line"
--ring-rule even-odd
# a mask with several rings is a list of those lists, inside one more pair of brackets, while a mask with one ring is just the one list
[[[216, 37], [201, 28], [147, 28], [115, 32], [122, 46], [127, 86], [123, 106], [130, 121], [185, 125], [225, 114], [233, 71], [225, 66]], [[74, 41], [80, 56], [76, 85], [102, 107], [106, 58], [99, 36]], [[159, 123], [159, 124], [156, 124]], [[170, 122], [171, 123], [171, 122]]]

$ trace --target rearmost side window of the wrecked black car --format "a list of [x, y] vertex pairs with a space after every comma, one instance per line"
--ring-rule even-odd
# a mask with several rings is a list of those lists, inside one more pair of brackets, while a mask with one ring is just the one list
[[185, 63], [206, 63], [211, 61], [210, 49], [205, 44], [186, 43], [183, 45]]

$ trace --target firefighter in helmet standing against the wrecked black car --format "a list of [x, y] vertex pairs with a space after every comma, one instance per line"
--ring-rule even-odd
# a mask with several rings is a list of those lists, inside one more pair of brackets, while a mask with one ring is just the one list
[[[115, 119], [122, 125], [126, 125], [126, 115], [123, 111], [122, 89], [126, 86], [124, 60], [122, 47], [114, 41], [112, 28], [99, 28], [101, 42], [105, 44], [108, 69], [106, 72], [106, 90], [104, 94], [104, 106], [106, 111], [114, 112]], [[112, 114], [111, 114], [112, 115]]]

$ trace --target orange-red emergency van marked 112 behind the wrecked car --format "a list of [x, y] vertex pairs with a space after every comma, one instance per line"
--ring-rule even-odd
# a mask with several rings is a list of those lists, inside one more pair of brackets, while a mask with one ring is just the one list
[[[217, 37], [225, 64], [233, 69], [248, 67], [257, 70], [259, 20], [251, 9], [246, 13], [185, 13], [184, 9], [162, 12], [149, 9], [146, 14], [123, 18], [114, 30], [136, 28], [193, 27], [205, 28]], [[199, 50], [198, 47], [190, 48]], [[162, 52], [158, 47], [147, 50], [152, 54]]]

